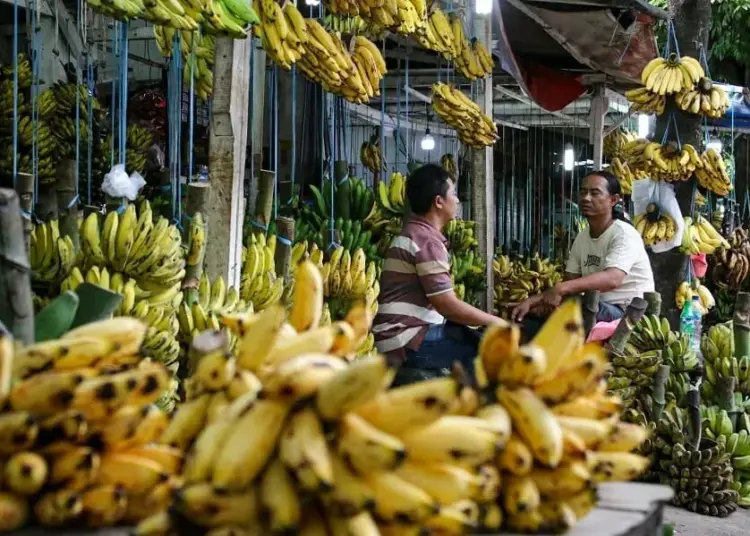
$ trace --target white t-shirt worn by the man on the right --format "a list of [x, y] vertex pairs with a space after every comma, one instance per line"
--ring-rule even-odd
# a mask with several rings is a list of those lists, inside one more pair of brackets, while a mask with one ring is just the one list
[[587, 276], [607, 268], [619, 268], [625, 272], [625, 279], [615, 290], [602, 292], [602, 301], [625, 307], [633, 298], [642, 298], [644, 292], [654, 290], [654, 275], [643, 239], [635, 227], [624, 221], [615, 220], [599, 238], [591, 238], [588, 228], [578, 233], [565, 271]]

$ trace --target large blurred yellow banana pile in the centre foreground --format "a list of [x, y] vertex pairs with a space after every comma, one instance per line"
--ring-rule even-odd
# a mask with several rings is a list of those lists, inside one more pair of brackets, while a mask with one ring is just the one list
[[303, 263], [295, 280], [287, 322], [281, 307], [225, 317], [236, 352], [213, 333], [196, 340], [188, 401], [159, 439], [185, 451], [183, 484], [136, 535], [562, 532], [595, 507], [598, 482], [646, 468], [630, 452], [645, 431], [617, 422], [618, 401], [601, 391], [605, 354], [584, 346], [578, 304], [535, 348], [519, 347], [517, 327], [489, 330], [477, 360], [484, 402], [453, 377], [386, 390], [383, 356], [351, 360], [366, 309], [320, 327], [320, 274]]

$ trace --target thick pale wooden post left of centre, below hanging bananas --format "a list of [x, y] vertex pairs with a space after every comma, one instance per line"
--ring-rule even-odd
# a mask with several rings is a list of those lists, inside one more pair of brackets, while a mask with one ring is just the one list
[[216, 39], [214, 93], [208, 144], [213, 194], [207, 211], [206, 270], [239, 287], [242, 269], [245, 154], [252, 39]]

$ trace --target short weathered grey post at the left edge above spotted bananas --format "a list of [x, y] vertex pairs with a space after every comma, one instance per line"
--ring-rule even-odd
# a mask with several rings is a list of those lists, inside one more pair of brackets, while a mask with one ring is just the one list
[[34, 342], [31, 267], [23, 240], [21, 205], [13, 190], [0, 189], [0, 321], [23, 344]]

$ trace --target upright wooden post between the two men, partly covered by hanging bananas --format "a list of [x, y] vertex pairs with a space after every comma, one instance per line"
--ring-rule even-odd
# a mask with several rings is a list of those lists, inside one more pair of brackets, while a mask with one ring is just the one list
[[[492, 50], [491, 16], [475, 17], [475, 35], [487, 50]], [[478, 105], [490, 118], [494, 117], [492, 74], [477, 82]], [[476, 222], [476, 237], [479, 242], [479, 255], [485, 260], [485, 280], [487, 289], [480, 295], [480, 305], [485, 311], [492, 312], [495, 274], [492, 270], [492, 258], [495, 254], [495, 228], [497, 211], [495, 210], [495, 167], [493, 146], [484, 149], [473, 149], [471, 188], [472, 219]]]

